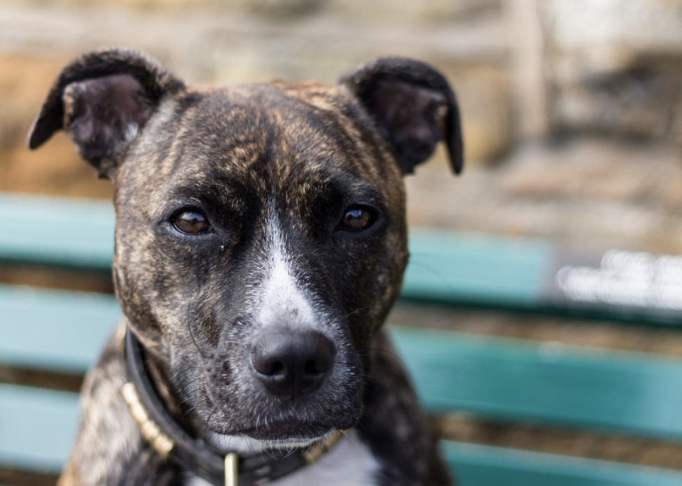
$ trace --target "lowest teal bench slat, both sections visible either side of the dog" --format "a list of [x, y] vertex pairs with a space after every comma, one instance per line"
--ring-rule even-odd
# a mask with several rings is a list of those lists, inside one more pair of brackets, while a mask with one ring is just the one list
[[[0, 384], [0, 465], [56, 473], [78, 424], [77, 394]], [[679, 486], [682, 472], [443, 441], [461, 486]]]

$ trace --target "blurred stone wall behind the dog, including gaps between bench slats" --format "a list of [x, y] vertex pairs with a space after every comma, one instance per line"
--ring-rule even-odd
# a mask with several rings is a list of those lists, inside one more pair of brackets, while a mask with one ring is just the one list
[[[0, 191], [109, 199], [58, 133], [24, 138], [73, 56], [144, 49], [185, 81], [338, 76], [375, 56], [454, 87], [466, 165], [406, 178], [412, 227], [682, 254], [682, 0], [0, 0]], [[86, 278], [86, 277], [84, 277]], [[111, 291], [0, 266], [0, 280]], [[668, 329], [401, 302], [397, 324], [682, 356]], [[434, 419], [445, 437], [680, 468], [682, 446]]]

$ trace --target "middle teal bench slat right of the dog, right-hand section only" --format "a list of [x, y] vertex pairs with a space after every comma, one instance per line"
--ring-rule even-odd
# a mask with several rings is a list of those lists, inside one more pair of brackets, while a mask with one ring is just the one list
[[431, 412], [682, 439], [682, 360], [392, 327]]

